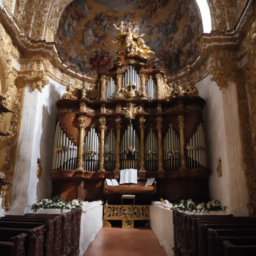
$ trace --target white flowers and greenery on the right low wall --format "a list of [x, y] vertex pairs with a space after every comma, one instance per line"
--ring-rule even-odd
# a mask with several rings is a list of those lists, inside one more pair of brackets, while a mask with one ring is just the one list
[[220, 201], [211, 200], [208, 203], [195, 203], [192, 199], [181, 200], [179, 204], [173, 204], [172, 208], [177, 208], [179, 211], [188, 212], [209, 212], [209, 211], [225, 211], [227, 206], [221, 206]]

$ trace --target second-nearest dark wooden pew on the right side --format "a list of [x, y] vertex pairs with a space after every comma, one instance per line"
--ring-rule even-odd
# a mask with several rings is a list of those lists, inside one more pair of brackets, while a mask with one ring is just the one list
[[256, 245], [256, 233], [254, 237], [232, 235], [230, 237], [221, 237], [218, 231], [212, 230], [211, 228], [207, 231], [208, 236], [208, 255], [209, 256], [223, 256], [224, 246], [223, 241], [230, 241], [234, 245]]

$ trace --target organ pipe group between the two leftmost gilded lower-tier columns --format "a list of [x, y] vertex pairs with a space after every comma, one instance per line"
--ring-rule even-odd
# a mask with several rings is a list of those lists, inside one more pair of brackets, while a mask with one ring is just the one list
[[92, 126], [84, 139], [84, 170], [99, 170], [99, 136]]

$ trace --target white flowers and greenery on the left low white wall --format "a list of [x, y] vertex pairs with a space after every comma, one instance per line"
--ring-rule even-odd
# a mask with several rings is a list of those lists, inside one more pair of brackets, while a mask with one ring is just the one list
[[37, 212], [38, 209], [67, 209], [72, 210], [75, 208], [80, 208], [81, 203], [83, 201], [79, 201], [77, 199], [72, 200], [71, 202], [65, 202], [60, 200], [59, 197], [53, 197], [52, 199], [42, 199], [41, 201], [38, 201], [37, 203], [33, 204], [31, 206], [32, 212]]

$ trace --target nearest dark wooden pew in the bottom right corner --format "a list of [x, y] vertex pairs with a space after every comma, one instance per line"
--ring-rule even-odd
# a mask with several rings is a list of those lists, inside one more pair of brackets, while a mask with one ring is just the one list
[[234, 245], [230, 241], [224, 241], [224, 256], [255, 256], [256, 245]]

